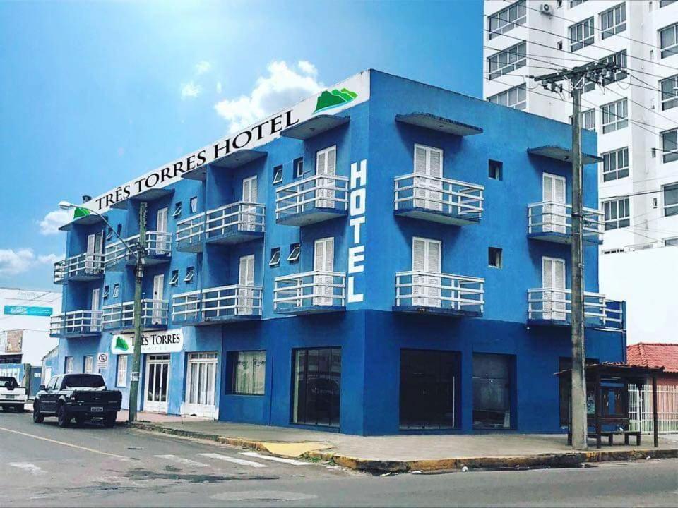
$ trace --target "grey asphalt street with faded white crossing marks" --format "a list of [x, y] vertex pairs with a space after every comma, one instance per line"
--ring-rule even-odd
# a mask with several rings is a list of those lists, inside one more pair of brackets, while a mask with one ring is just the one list
[[0, 506], [675, 506], [678, 461], [370, 476], [210, 442], [0, 412]]

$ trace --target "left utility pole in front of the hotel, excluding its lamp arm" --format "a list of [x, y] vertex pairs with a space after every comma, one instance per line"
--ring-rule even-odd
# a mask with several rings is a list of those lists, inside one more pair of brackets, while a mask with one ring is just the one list
[[139, 203], [139, 241], [134, 266], [134, 354], [132, 356], [132, 380], [129, 384], [129, 413], [127, 421], [136, 421], [139, 396], [139, 373], [141, 372], [141, 282], [143, 281], [143, 258], [146, 253], [146, 203]]

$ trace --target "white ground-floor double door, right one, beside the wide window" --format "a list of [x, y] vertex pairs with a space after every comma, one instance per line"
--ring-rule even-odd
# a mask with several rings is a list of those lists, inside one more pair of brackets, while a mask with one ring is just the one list
[[186, 368], [186, 398], [182, 415], [217, 418], [215, 386], [217, 353], [191, 353]]

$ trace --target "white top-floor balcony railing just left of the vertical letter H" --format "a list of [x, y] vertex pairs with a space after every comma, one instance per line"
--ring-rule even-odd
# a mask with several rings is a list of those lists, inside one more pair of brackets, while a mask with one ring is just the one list
[[345, 176], [309, 176], [275, 191], [276, 221], [318, 208], [336, 212], [348, 210], [348, 179]]

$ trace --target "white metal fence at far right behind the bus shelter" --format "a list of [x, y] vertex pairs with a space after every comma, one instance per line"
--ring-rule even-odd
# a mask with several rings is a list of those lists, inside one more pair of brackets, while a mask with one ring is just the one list
[[[640, 389], [629, 386], [629, 418], [630, 430], [654, 432], [652, 385], [642, 385]], [[657, 387], [657, 422], [658, 433], [678, 433], [678, 386]]]

